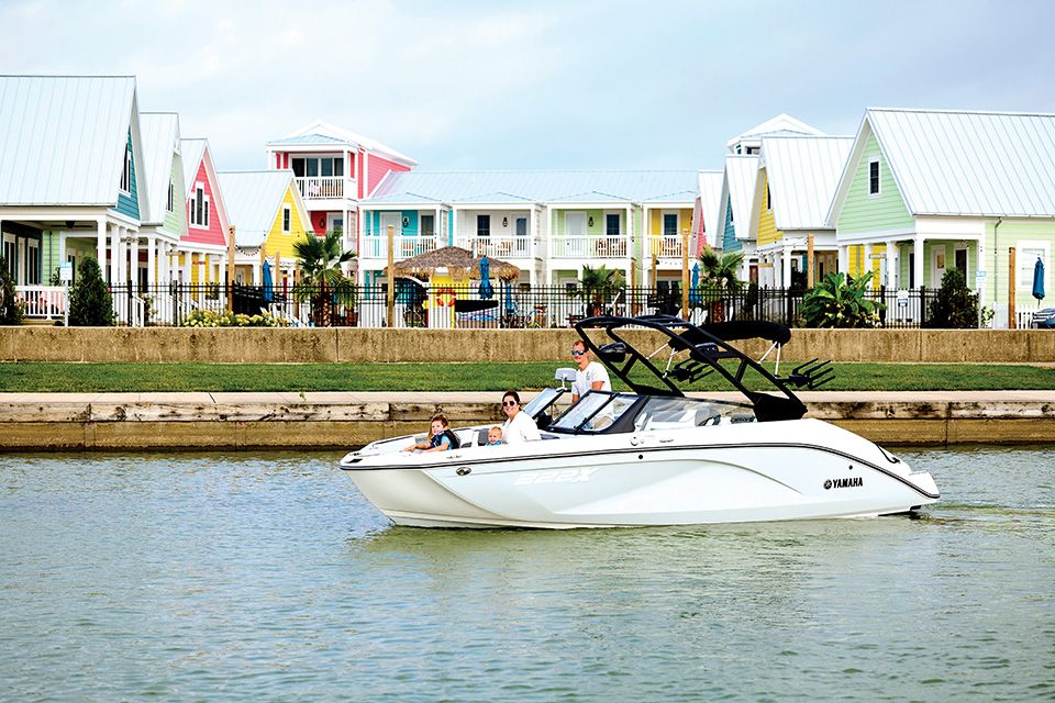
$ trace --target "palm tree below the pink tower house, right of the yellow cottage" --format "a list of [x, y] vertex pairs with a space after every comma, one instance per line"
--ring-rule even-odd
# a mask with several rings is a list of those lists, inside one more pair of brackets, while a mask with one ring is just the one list
[[355, 305], [358, 289], [344, 276], [341, 265], [358, 256], [341, 246], [340, 232], [326, 232], [324, 237], [304, 233], [303, 239], [293, 242], [293, 254], [300, 259], [303, 276], [293, 287], [297, 302], [311, 300], [311, 316], [315, 324], [330, 326], [333, 305]]

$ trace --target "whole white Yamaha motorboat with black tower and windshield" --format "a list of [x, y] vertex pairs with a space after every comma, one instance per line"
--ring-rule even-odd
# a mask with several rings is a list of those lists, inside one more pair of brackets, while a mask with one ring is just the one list
[[[591, 390], [569, 405], [574, 369], [558, 369], [560, 386], [521, 410], [541, 440], [485, 446], [489, 425], [463, 427], [458, 449], [412, 454], [401, 449], [421, 436], [382, 439], [348, 453], [340, 468], [393, 523], [419, 527], [862, 517], [910, 513], [940, 498], [930, 473], [804, 417], [795, 390], [830, 381], [832, 369], [814, 359], [781, 377], [780, 347], [791, 336], [784, 325], [603, 315], [575, 328], [629, 392]], [[756, 338], [769, 343], [758, 360], [732, 344]], [[657, 348], [645, 355], [631, 341]], [[762, 362], [774, 352], [770, 372]], [[729, 392], [691, 391], [715, 373]]]

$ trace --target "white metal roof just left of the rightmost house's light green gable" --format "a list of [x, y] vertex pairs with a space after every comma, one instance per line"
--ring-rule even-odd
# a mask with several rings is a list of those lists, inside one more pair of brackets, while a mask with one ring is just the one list
[[828, 210], [853, 146], [852, 136], [763, 137], [777, 230], [828, 228]]

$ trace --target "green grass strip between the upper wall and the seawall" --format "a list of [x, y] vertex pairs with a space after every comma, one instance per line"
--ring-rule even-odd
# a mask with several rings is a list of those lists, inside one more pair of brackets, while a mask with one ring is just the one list
[[[555, 361], [531, 364], [2, 362], [0, 392], [502, 391], [553, 383]], [[1026, 365], [833, 364], [822, 390], [1055, 390], [1055, 369]], [[771, 366], [769, 366], [771, 370]], [[782, 364], [788, 373], [791, 364]], [[728, 390], [717, 375], [690, 390]], [[620, 390], [621, 383], [614, 387]]]

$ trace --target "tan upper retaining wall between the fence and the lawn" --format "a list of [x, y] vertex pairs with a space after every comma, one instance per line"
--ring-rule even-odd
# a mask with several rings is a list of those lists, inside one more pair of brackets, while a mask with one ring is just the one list
[[[598, 334], [598, 333], [595, 333]], [[602, 333], [596, 338], [603, 337]], [[651, 339], [648, 337], [652, 337]], [[574, 330], [0, 327], [0, 361], [564, 361]], [[626, 331], [654, 349], [651, 331]], [[757, 358], [767, 345], [741, 348]], [[795, 330], [781, 360], [1055, 362], [1050, 330]]]

